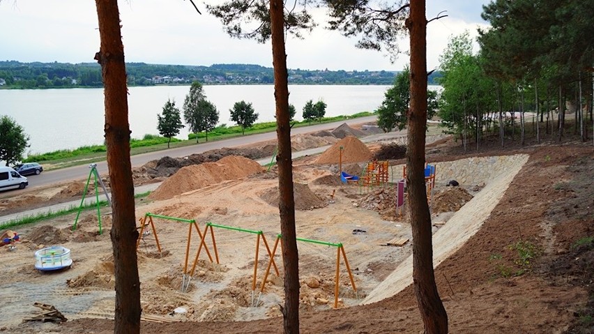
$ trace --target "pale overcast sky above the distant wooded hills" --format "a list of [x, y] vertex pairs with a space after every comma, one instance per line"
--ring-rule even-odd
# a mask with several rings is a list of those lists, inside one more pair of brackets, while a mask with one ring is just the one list
[[[22, 62], [93, 62], [99, 50], [95, 1], [0, 0], [0, 60]], [[215, 1], [215, 0], [212, 0]], [[188, 0], [119, 1], [125, 59], [180, 65], [252, 63], [272, 67], [269, 43], [238, 40], [224, 33], [220, 21], [208, 15], [204, 3]], [[427, 0], [427, 18], [442, 10], [448, 17], [427, 28], [427, 67], [439, 66], [439, 54], [448, 38], [468, 30], [476, 36], [482, 5], [487, 0]], [[408, 56], [396, 63], [371, 50], [358, 50], [347, 39], [323, 28], [323, 22], [305, 39], [287, 40], [287, 66], [317, 70], [402, 70]], [[402, 49], [408, 41], [402, 42]]]

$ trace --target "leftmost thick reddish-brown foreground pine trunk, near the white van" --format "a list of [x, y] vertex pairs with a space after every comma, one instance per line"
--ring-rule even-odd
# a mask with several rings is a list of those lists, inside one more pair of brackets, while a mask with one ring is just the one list
[[105, 142], [112, 187], [116, 310], [114, 333], [140, 333], [134, 184], [130, 164], [128, 90], [117, 0], [96, 0], [101, 47], [95, 59], [105, 86]]

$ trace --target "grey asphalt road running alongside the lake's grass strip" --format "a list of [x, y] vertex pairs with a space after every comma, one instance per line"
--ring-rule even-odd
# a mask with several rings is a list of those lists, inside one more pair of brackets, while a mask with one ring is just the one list
[[[316, 124], [312, 126], [304, 126], [301, 128], [291, 129], [291, 135], [298, 135], [307, 132], [316, 132], [320, 130], [332, 130], [337, 128], [342, 123], [347, 123], [349, 126], [353, 124], [367, 123], [376, 121], [376, 116], [360, 117], [357, 119], [349, 119], [347, 121], [339, 121], [334, 123]], [[139, 167], [144, 165], [146, 162], [151, 160], [157, 160], [164, 156], [170, 156], [172, 158], [183, 157], [194, 153], [202, 153], [213, 149], [222, 149], [223, 147], [236, 147], [246, 144], [254, 144], [257, 142], [264, 142], [267, 140], [276, 139], [276, 132], [266, 132], [258, 135], [249, 135], [245, 137], [234, 137], [231, 139], [219, 140], [217, 142], [200, 143], [192, 146], [178, 147], [175, 149], [168, 149], [163, 151], [156, 151], [151, 153], [144, 153], [139, 155], [132, 155], [131, 162], [132, 167]], [[97, 170], [100, 174], [107, 174], [107, 161], [97, 162]], [[51, 185], [54, 183], [62, 183], [64, 181], [71, 180], [82, 180], [89, 177], [90, 169], [89, 165], [79, 165], [74, 167], [68, 167], [63, 169], [56, 169], [48, 172], [43, 172], [39, 175], [32, 175], [27, 177], [29, 180], [29, 187], [27, 190], [45, 185]], [[20, 195], [19, 192], [22, 190], [9, 190], [7, 192], [1, 192], [0, 197], [3, 195]], [[8, 194], [10, 193], [10, 194]]]

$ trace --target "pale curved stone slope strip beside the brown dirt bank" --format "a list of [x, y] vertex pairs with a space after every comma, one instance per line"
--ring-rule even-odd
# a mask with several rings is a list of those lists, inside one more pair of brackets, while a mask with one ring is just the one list
[[[521, 160], [510, 165], [508, 170], [490, 181], [470, 202], [452, 215], [446, 225], [436, 231], [433, 236], [433, 263], [439, 266], [464, 245], [473, 236], [495, 206], [499, 203], [503, 193], [513, 181], [521, 167], [528, 161], [528, 155], [521, 155]], [[396, 268], [396, 270], [381, 282], [363, 301], [363, 304], [381, 301], [394, 296], [413, 282], [413, 256], [410, 255]]]

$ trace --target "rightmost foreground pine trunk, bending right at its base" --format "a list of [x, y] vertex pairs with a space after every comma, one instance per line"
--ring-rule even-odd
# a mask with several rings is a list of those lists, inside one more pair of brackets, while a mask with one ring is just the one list
[[406, 173], [413, 232], [413, 284], [426, 333], [448, 333], [448, 314], [435, 284], [431, 215], [425, 188], [427, 130], [427, 19], [425, 0], [411, 1], [406, 26], [411, 36], [411, 107]]

